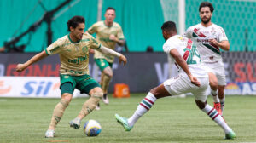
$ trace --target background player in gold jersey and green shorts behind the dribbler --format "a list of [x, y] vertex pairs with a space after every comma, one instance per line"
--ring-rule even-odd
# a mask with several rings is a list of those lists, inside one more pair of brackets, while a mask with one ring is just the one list
[[[115, 44], [124, 45], [124, 34], [121, 26], [118, 23], [113, 22], [115, 18], [115, 9], [109, 7], [106, 10], [105, 20], [96, 22], [94, 25], [90, 26], [88, 32], [90, 34], [96, 33], [96, 39], [103, 46], [108, 47], [109, 49], [115, 48]], [[113, 77], [113, 55], [102, 54], [98, 51], [95, 51], [94, 60], [96, 65], [102, 71], [102, 77], [100, 84], [102, 85], [103, 90], [103, 102], [108, 104], [108, 86]], [[97, 106], [99, 109], [99, 106]]]

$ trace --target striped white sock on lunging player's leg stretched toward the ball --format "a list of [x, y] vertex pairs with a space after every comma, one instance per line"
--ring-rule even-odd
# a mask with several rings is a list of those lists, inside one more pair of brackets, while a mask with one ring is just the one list
[[128, 119], [129, 126], [133, 126], [140, 117], [148, 112], [148, 110], [154, 105], [155, 100], [156, 98], [154, 97], [154, 94], [148, 92], [147, 96], [137, 106], [137, 110]]

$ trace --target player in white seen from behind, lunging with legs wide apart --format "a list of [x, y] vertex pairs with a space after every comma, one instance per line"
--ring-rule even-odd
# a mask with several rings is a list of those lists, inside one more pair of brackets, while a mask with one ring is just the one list
[[163, 37], [166, 39], [163, 49], [167, 54], [171, 54], [172, 60], [175, 60], [179, 74], [177, 77], [168, 79], [160, 86], [151, 89], [130, 118], [127, 119], [115, 114], [117, 121], [126, 131], [130, 131], [137, 120], [148, 112], [157, 99], [192, 93], [195, 96], [195, 103], [201, 111], [207, 113], [215, 123], [224, 129], [225, 138], [234, 139], [236, 134], [224, 122], [224, 118], [212, 106], [207, 104], [209, 78], [204, 67], [201, 66], [201, 58], [195, 43], [186, 37], [177, 35], [176, 25], [172, 21], [165, 22], [161, 29]]

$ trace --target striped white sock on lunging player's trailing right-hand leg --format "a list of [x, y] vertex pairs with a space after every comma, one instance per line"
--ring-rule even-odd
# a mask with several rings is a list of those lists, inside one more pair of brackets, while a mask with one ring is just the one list
[[212, 106], [209, 106], [209, 105], [207, 104], [207, 106], [206, 106], [204, 109], [202, 109], [202, 111], [203, 111], [203, 112], [206, 112], [207, 115], [208, 115], [209, 117], [211, 117], [212, 120], [215, 121], [215, 123], [218, 123], [218, 125], [219, 125], [222, 129], [224, 129], [225, 134], [230, 133], [230, 131], [231, 131], [232, 129], [230, 129], [230, 127], [228, 126], [228, 124], [225, 123], [224, 119], [218, 114], [218, 112], [217, 112], [214, 108], [212, 108]]

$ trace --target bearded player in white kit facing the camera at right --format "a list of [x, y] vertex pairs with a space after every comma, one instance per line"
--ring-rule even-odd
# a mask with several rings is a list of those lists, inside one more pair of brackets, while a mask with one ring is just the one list
[[209, 75], [214, 107], [222, 115], [226, 79], [220, 49], [229, 50], [230, 43], [224, 29], [211, 22], [213, 10], [212, 3], [202, 2], [199, 7], [201, 23], [189, 27], [184, 35], [197, 45], [202, 63]]

